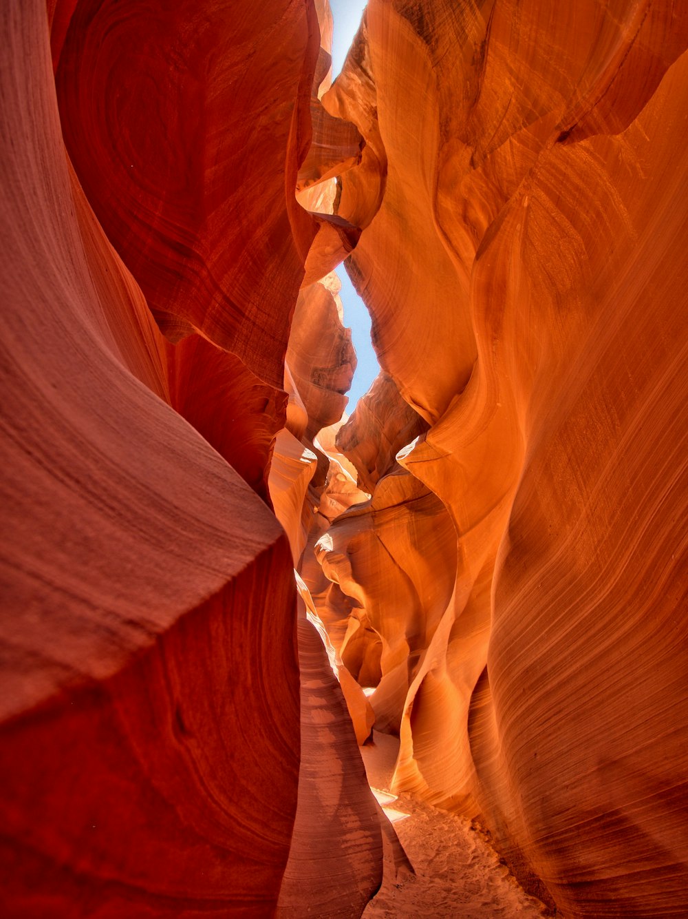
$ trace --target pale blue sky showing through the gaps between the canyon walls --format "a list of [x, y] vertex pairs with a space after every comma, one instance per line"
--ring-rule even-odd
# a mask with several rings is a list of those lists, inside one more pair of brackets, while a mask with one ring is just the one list
[[[361, 15], [366, 0], [330, 0], [334, 18], [334, 38], [332, 41], [332, 72], [339, 73], [351, 46], [351, 41], [358, 31]], [[371, 318], [361, 298], [353, 289], [349, 276], [343, 265], [337, 269], [341, 280], [341, 302], [344, 306], [344, 323], [350, 326], [351, 340], [356, 348], [359, 364], [349, 391], [347, 412], [351, 414], [363, 393], [370, 389], [372, 380], [380, 372], [377, 357], [371, 345]]]

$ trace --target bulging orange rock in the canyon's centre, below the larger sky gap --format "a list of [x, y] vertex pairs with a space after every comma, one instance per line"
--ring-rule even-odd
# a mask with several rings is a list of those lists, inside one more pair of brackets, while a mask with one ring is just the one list
[[316, 554], [334, 582], [320, 598], [323, 621], [339, 636], [350, 673], [376, 687], [376, 726], [398, 732], [409, 686], [451, 596], [451, 519], [436, 495], [400, 472], [381, 480], [370, 502], [339, 516]]

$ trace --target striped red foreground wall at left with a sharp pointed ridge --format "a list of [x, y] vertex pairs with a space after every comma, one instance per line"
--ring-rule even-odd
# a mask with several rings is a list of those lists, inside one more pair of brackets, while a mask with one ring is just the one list
[[4, 912], [269, 912], [299, 761], [288, 550], [163, 401], [164, 340], [68, 170], [44, 10], [4, 24]]

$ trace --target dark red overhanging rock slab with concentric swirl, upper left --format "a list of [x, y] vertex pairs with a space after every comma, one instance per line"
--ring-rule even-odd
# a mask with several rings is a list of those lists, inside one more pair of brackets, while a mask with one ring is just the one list
[[310, 3], [107, 0], [75, 5], [56, 64], [67, 149], [162, 330], [277, 387], [317, 229], [293, 189], [318, 49]]

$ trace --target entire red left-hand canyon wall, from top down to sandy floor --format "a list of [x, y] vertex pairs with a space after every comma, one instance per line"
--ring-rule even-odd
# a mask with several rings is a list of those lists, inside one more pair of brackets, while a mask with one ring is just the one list
[[361, 913], [380, 814], [268, 504], [316, 8], [28, 0], [0, 28], [1, 911], [267, 916], [288, 877], [294, 914]]

